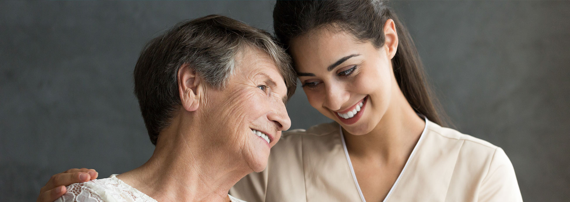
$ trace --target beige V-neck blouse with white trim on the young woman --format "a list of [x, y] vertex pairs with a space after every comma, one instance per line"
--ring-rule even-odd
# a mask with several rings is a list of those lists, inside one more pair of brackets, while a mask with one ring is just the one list
[[[379, 171], [381, 172], [381, 171]], [[230, 194], [257, 201], [365, 201], [338, 123], [283, 133], [267, 168]], [[522, 201], [500, 147], [426, 119], [426, 126], [384, 201]]]

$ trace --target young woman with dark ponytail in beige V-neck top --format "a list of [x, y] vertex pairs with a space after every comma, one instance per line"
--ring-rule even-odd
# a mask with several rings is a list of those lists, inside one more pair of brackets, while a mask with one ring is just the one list
[[412, 39], [385, 1], [278, 1], [274, 28], [308, 101], [335, 122], [283, 133], [266, 170], [247, 175], [231, 195], [522, 201], [502, 149], [443, 127]]

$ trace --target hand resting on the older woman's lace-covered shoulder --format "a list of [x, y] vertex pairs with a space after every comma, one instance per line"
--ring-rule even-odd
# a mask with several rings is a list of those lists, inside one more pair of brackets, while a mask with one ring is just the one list
[[74, 183], [87, 182], [97, 179], [97, 171], [81, 168], [70, 169], [51, 176], [50, 180], [40, 189], [37, 202], [52, 202], [66, 193], [66, 186]]

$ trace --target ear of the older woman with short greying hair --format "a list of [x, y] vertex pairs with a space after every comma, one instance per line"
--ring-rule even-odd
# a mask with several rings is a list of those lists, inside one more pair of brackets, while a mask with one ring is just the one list
[[200, 94], [203, 86], [200, 76], [189, 64], [183, 64], [178, 69], [178, 93], [180, 102], [188, 112], [194, 112], [200, 105]]

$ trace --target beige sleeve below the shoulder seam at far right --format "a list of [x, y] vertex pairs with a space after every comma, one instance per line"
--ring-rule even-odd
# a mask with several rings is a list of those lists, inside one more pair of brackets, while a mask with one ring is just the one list
[[500, 147], [495, 149], [479, 190], [479, 201], [523, 201], [515, 169]]

